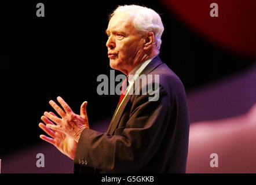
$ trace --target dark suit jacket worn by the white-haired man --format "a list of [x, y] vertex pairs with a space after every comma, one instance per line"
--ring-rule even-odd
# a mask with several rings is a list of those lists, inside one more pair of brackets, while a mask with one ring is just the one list
[[189, 114], [184, 86], [158, 56], [142, 74], [160, 78], [134, 83], [133, 92], [159, 85], [153, 89], [159, 99], [149, 101], [149, 93], [127, 95], [107, 133], [84, 129], [74, 173], [185, 173]]

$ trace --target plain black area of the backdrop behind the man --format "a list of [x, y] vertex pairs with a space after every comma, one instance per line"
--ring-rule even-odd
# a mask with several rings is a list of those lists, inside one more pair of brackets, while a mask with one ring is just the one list
[[[36, 17], [36, 3], [45, 17]], [[183, 24], [159, 1], [9, 1], [1, 3], [3, 29], [2, 123], [0, 154], [34, 144], [49, 100], [61, 96], [79, 113], [88, 101], [89, 123], [111, 117], [118, 95], [98, 95], [97, 76], [109, 76], [108, 15], [118, 5], [135, 3], [162, 17], [160, 58], [182, 80], [186, 91], [241, 71], [253, 58], [221, 49]], [[118, 71], [115, 71], [118, 74]]]

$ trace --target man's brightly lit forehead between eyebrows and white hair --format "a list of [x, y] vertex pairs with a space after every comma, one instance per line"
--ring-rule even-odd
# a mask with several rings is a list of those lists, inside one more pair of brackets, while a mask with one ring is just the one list
[[117, 13], [109, 20], [107, 31], [112, 29], [125, 29], [131, 31], [133, 27], [133, 18], [134, 15], [130, 13]]

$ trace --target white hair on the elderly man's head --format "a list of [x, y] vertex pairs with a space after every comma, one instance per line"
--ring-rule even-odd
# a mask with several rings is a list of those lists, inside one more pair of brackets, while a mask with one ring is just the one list
[[118, 13], [131, 13], [134, 15], [133, 26], [139, 34], [145, 34], [147, 32], [153, 32], [155, 36], [156, 49], [160, 49], [162, 43], [161, 36], [163, 34], [163, 23], [161, 17], [155, 10], [144, 6], [138, 5], [124, 5], [118, 6], [114, 12], [109, 16], [109, 20], [115, 14]]

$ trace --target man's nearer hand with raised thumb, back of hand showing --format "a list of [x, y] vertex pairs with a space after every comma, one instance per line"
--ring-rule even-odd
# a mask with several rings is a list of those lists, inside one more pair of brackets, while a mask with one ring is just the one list
[[57, 97], [57, 101], [63, 107], [60, 108], [54, 101], [50, 101], [50, 105], [54, 110], [61, 116], [61, 119], [53, 114], [45, 112], [44, 115], [52, 120], [56, 125], [46, 124], [46, 127], [53, 129], [55, 131], [63, 132], [64, 134], [70, 136], [76, 142], [78, 142], [81, 132], [85, 128], [89, 128], [88, 117], [86, 113], [87, 102], [83, 102], [81, 105], [80, 115], [75, 114], [70, 106], [64, 101], [63, 98]]

